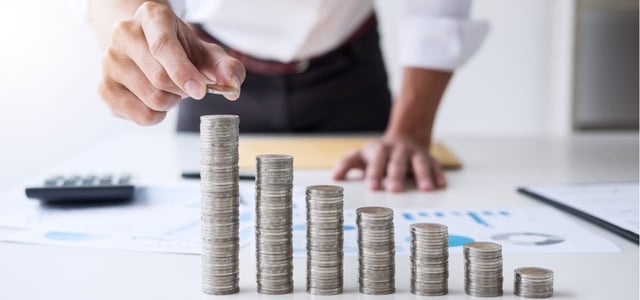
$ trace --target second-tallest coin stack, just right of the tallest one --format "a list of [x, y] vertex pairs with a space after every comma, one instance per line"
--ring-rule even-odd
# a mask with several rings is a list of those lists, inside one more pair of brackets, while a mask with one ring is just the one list
[[293, 291], [293, 157], [256, 157], [256, 267], [258, 293]]

